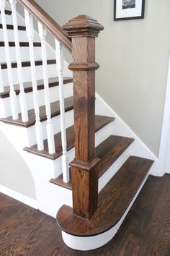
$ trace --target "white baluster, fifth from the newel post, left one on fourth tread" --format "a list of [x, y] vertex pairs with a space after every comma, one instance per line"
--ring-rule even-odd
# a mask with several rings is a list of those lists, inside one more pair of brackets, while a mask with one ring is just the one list
[[5, 0], [0, 0], [1, 8], [1, 21], [3, 25], [3, 34], [4, 34], [4, 44], [5, 44], [5, 53], [6, 53], [6, 63], [7, 63], [7, 72], [9, 77], [9, 86], [10, 86], [10, 103], [12, 108], [12, 118], [14, 120], [18, 119], [18, 109], [17, 109], [17, 96], [14, 91], [14, 83], [12, 80], [12, 61], [9, 53], [9, 40], [6, 29], [6, 17], [5, 17]]

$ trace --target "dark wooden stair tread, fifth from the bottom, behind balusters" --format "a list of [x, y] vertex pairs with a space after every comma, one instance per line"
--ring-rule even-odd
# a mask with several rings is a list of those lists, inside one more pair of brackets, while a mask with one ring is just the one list
[[[58, 86], [58, 77], [53, 77], [48, 79], [49, 82], [49, 88], [52, 88], [54, 86]], [[72, 77], [63, 77], [63, 83], [68, 84], [73, 82]], [[44, 81], [43, 80], [38, 80], [37, 81], [37, 90], [42, 90], [44, 89]], [[14, 90], [16, 94], [19, 94], [19, 85], [14, 85]], [[10, 88], [9, 86], [4, 87], [4, 92], [0, 93], [0, 98], [8, 98], [9, 97], [9, 92]], [[24, 92], [25, 93], [30, 93], [32, 92], [32, 82], [24, 82]]]

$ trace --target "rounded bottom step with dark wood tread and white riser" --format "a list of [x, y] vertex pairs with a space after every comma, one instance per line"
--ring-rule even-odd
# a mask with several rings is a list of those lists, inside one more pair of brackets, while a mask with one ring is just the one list
[[[132, 164], [132, 161], [133, 161], [133, 164]], [[135, 170], [134, 170], [134, 163], [135, 163]], [[127, 172], [137, 173], [138, 179], [137, 179], [137, 176], [136, 177], [133, 176], [134, 179], [138, 180], [138, 182], [137, 180], [135, 182], [136, 183], [135, 190], [133, 190], [134, 186], [133, 186], [133, 180], [131, 175], [129, 180], [125, 179], [125, 182], [123, 182], [125, 183], [124, 186], [122, 182], [118, 182], [119, 183], [118, 186], [116, 185], [118, 178], [120, 178], [120, 176], [122, 175], [120, 174], [115, 175], [115, 177], [111, 179], [110, 184], [107, 184], [107, 186], [104, 188], [104, 189], [109, 189], [109, 187], [112, 187], [110, 191], [107, 190], [107, 192], [112, 194], [112, 200], [111, 198], [108, 199], [108, 197], [105, 197], [106, 201], [107, 200], [112, 201], [112, 206], [110, 206], [107, 209], [107, 213], [106, 213], [106, 210], [102, 210], [102, 208], [100, 208], [99, 206], [98, 213], [96, 214], [94, 213], [94, 216], [90, 221], [79, 218], [78, 216], [74, 216], [72, 213], [72, 209], [66, 205], [63, 205], [63, 207], [58, 211], [58, 215], [57, 215], [58, 226], [60, 226], [60, 228], [62, 229], [63, 242], [65, 242], [65, 244], [71, 249], [77, 249], [81, 251], [97, 249], [99, 247], [102, 247], [104, 244], [107, 244], [107, 242], [109, 242], [115, 236], [118, 229], [120, 229], [122, 221], [124, 221], [130, 208], [133, 205], [133, 202], [135, 202], [135, 199], [136, 197], [138, 197], [140, 190], [142, 189], [143, 185], [146, 183], [146, 179], [148, 179], [148, 175], [149, 175], [149, 169], [151, 168], [152, 164], [153, 164], [153, 161], [148, 159], [130, 157], [128, 161], [124, 163], [122, 168], [120, 168], [120, 174], [121, 173], [123, 174], [123, 172], [125, 174], [125, 169]], [[131, 165], [131, 170], [129, 168], [127, 169], [129, 165]], [[143, 169], [143, 170], [141, 171], [140, 169]], [[140, 176], [140, 179], [139, 179], [139, 176]], [[126, 176], [124, 178], [126, 178]], [[133, 189], [130, 189], [131, 192], [129, 193], [128, 187], [129, 188], [131, 187], [130, 180], [132, 181], [131, 186], [133, 186]], [[120, 184], [122, 184], [122, 186], [120, 186]], [[121, 187], [124, 191], [123, 194], [122, 192], [117, 191], [117, 188], [119, 188], [119, 190], [122, 190]], [[103, 189], [103, 192], [104, 192], [104, 189]], [[120, 195], [118, 197], [117, 195], [115, 196], [115, 194], [119, 194], [119, 193], [121, 197]], [[131, 197], [130, 197], [130, 194], [131, 194]], [[127, 198], [125, 198], [126, 195], [128, 195]], [[125, 202], [126, 206], [122, 204], [122, 201], [121, 201], [122, 197], [125, 198], [124, 201], [126, 201]], [[104, 200], [104, 197], [102, 198], [102, 201], [103, 200]], [[117, 210], [115, 209], [119, 208], [119, 206], [117, 207], [117, 205], [120, 205], [121, 210], [118, 210], [119, 214], [117, 215], [117, 221], [116, 221], [115, 216], [116, 216]], [[104, 208], [107, 208], [106, 205]]]

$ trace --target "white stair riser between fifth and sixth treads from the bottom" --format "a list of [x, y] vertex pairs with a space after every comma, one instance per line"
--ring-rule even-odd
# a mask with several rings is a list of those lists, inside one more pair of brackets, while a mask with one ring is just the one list
[[[24, 82], [30, 82], [31, 80], [31, 69], [30, 67], [22, 67], [23, 70], [23, 80]], [[4, 82], [4, 86], [9, 85], [9, 79], [8, 79], [8, 72], [7, 69], [2, 69], [2, 79]], [[55, 64], [49, 64], [48, 65], [48, 77], [57, 77], [57, 71], [56, 71], [56, 65]], [[36, 79], [42, 80], [43, 79], [43, 73], [42, 73], [42, 65], [36, 66]], [[14, 85], [18, 84], [18, 73], [17, 68], [12, 68], [12, 80]]]

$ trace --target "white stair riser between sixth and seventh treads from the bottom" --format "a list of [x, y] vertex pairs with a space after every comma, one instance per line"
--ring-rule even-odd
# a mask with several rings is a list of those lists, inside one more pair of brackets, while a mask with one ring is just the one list
[[[20, 53], [21, 53], [21, 58], [22, 61], [30, 61], [30, 53], [29, 53], [29, 47], [20, 47]], [[9, 47], [10, 51], [10, 58], [12, 62], [17, 62], [17, 57], [15, 53], [15, 47]], [[41, 54], [41, 48], [40, 47], [35, 47], [35, 60], [40, 60], [42, 59], [42, 54]], [[5, 48], [0, 47], [0, 56], [1, 56], [1, 63], [6, 63], [6, 55], [5, 55]], [[47, 53], [47, 58], [48, 59], [55, 59], [55, 54], [53, 51], [48, 51]]]

